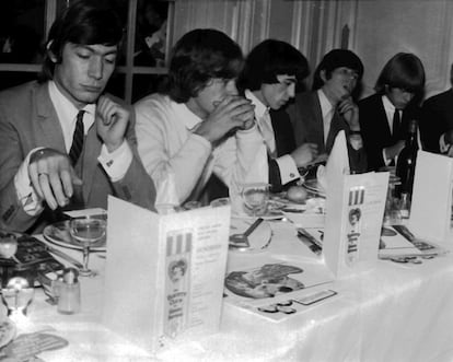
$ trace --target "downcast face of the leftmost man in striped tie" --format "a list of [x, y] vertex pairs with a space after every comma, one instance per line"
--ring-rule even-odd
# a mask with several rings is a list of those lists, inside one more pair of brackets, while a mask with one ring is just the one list
[[95, 103], [115, 69], [117, 46], [67, 43], [57, 62], [54, 80], [78, 108]]

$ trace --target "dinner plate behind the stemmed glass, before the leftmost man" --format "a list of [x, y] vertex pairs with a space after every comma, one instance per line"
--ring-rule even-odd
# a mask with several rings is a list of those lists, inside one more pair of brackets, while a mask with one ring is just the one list
[[[50, 243], [58, 246], [79, 250], [83, 248], [82, 245], [74, 241], [69, 233], [69, 220], [59, 221], [55, 224], [47, 225], [43, 231], [43, 236]], [[98, 242], [90, 244], [90, 250], [105, 252], [105, 242], [106, 238], [104, 236]]]

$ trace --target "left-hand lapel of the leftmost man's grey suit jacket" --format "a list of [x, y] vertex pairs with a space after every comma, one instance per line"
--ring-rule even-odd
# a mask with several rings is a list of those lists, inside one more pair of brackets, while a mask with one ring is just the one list
[[58, 120], [57, 112], [50, 101], [47, 83], [36, 87], [35, 97], [38, 119], [37, 127], [40, 129], [38, 135], [43, 138], [39, 140], [39, 144], [67, 153], [61, 125]]

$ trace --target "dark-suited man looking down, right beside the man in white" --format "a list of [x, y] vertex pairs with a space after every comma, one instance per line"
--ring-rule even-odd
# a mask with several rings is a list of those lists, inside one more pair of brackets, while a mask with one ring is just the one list
[[237, 87], [255, 106], [255, 119], [268, 150], [269, 184], [274, 191], [300, 178], [298, 168], [317, 156], [317, 147], [295, 147], [294, 131], [282, 107], [309, 74], [305, 57], [288, 43], [267, 39], [248, 54]]

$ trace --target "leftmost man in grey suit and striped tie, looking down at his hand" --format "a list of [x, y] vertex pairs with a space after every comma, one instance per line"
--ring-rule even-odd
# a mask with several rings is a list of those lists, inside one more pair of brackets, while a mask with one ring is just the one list
[[0, 227], [35, 232], [107, 195], [153, 208], [131, 113], [103, 94], [121, 36], [108, 3], [77, 1], [50, 28], [39, 81], [1, 93]]

